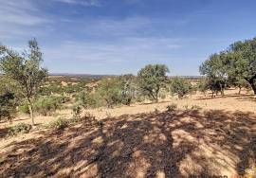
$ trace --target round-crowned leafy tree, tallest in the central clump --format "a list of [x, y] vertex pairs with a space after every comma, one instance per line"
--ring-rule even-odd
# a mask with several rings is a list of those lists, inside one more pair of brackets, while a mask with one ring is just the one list
[[143, 94], [157, 102], [160, 89], [166, 86], [168, 72], [164, 64], [148, 64], [137, 73], [138, 87]]

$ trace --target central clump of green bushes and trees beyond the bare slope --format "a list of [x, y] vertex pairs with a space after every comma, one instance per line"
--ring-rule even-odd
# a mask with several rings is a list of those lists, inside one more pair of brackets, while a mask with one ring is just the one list
[[131, 74], [102, 79], [94, 92], [83, 91], [77, 96], [82, 107], [113, 107], [118, 104], [130, 105], [132, 102], [150, 99], [158, 102], [170, 91], [183, 98], [192, 92], [192, 85], [185, 80], [169, 79], [169, 69], [164, 64], [148, 64], [141, 68], [137, 77]]

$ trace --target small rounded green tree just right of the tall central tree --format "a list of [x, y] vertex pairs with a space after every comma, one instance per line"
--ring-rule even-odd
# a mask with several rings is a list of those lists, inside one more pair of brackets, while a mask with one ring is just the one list
[[171, 92], [176, 94], [178, 98], [183, 98], [192, 92], [192, 84], [185, 80], [174, 78], [171, 82]]

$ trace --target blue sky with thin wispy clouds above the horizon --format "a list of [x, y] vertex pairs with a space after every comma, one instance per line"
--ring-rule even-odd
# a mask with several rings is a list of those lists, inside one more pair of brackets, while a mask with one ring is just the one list
[[0, 0], [0, 43], [36, 38], [54, 73], [198, 75], [210, 54], [256, 36], [255, 0]]

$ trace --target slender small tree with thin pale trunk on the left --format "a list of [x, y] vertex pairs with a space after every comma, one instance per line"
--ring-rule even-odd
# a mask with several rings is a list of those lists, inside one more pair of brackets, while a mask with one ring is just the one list
[[34, 39], [28, 42], [29, 50], [19, 54], [6, 46], [0, 47], [0, 70], [6, 77], [16, 80], [27, 98], [32, 126], [34, 126], [32, 99], [40, 83], [46, 79], [47, 70], [41, 67], [42, 52]]

